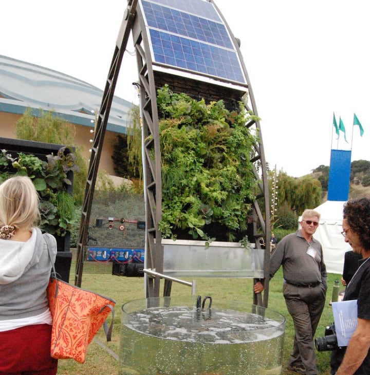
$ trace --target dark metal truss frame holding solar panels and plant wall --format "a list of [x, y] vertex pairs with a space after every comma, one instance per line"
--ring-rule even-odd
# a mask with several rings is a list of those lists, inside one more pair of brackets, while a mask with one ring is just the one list
[[[209, 0], [213, 3], [213, 0]], [[224, 20], [225, 21], [225, 20]], [[227, 25], [226, 21], [225, 24]], [[76, 266], [75, 284], [81, 285], [83, 270], [83, 252], [84, 243], [87, 237], [87, 228], [91, 211], [91, 203], [93, 200], [94, 186], [98, 172], [98, 165], [104, 133], [108, 120], [110, 106], [113, 100], [115, 85], [118, 78], [122, 56], [126, 48], [127, 39], [132, 32], [134, 41], [137, 67], [139, 74], [140, 87], [140, 111], [142, 119], [142, 138], [143, 138], [143, 165], [144, 165], [144, 200], [146, 215], [146, 231], [145, 231], [145, 261], [146, 268], [155, 270], [156, 273], [163, 272], [163, 248], [161, 245], [161, 232], [158, 223], [161, 220], [161, 164], [160, 164], [160, 145], [158, 130], [158, 109], [156, 96], [155, 71], [153, 70], [152, 58], [150, 53], [150, 43], [147, 37], [144, 18], [141, 14], [140, 7], [137, 7], [137, 0], [129, 0], [124, 15], [124, 20], [118, 35], [116, 49], [113, 56], [112, 65], [109, 70], [107, 83], [105, 86], [101, 108], [99, 110], [96, 133], [93, 143], [93, 152], [89, 164], [88, 178], [86, 182], [85, 199], [82, 211], [82, 222], [80, 226], [80, 237], [78, 243], [78, 259]], [[232, 32], [229, 29], [231, 35]], [[234, 38], [234, 36], [232, 36]], [[234, 39], [236, 43], [236, 40]], [[254, 96], [249, 82], [246, 67], [243, 63], [241, 52], [238, 50], [239, 58], [242, 62], [244, 73], [247, 77], [248, 99], [243, 101], [247, 111], [251, 111], [257, 115]], [[220, 98], [222, 99], [222, 98]], [[259, 121], [251, 121], [246, 124], [249, 128], [254, 128], [258, 133], [258, 144], [255, 145], [254, 154], [251, 155], [253, 163], [253, 173], [256, 181], [258, 181], [258, 192], [253, 202], [253, 234], [257, 237], [257, 224], [260, 223], [261, 229], [266, 238], [265, 275], [269, 274], [269, 256], [270, 256], [270, 203], [268, 194], [267, 167], [264, 156], [264, 147], [262, 141], [262, 132]], [[263, 202], [263, 210], [259, 201]], [[260, 248], [260, 243], [256, 241], [256, 247]], [[255, 280], [256, 282], [257, 280]], [[168, 280], [164, 282], [164, 295], [170, 295], [171, 283]], [[146, 296], [156, 297], [160, 294], [160, 276], [149, 277], [146, 275]], [[265, 291], [262, 300], [261, 294], [254, 294], [254, 303], [267, 307], [268, 304], [268, 277], [265, 282]]]

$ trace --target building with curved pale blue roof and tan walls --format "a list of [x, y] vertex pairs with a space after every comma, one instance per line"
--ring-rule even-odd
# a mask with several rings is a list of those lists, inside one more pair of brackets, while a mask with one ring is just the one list
[[[15, 123], [27, 108], [33, 116], [40, 109], [52, 110], [76, 127], [76, 144], [83, 146], [88, 159], [94, 129], [94, 111], [100, 108], [103, 90], [67, 74], [0, 55], [0, 130], [1, 136], [15, 138]], [[112, 144], [126, 132], [127, 113], [132, 103], [114, 97], [107, 123], [100, 168], [114, 174]]]

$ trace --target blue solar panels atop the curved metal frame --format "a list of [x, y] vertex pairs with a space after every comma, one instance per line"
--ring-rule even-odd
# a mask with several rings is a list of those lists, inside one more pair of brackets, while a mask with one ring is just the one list
[[246, 83], [236, 47], [212, 3], [142, 0], [154, 64]]

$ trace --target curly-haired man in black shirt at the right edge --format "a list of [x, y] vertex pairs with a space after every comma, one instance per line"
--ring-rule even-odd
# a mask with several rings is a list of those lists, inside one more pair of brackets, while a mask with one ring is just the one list
[[370, 373], [370, 199], [350, 200], [343, 210], [344, 240], [362, 255], [360, 266], [347, 285], [343, 301], [357, 299], [357, 328], [348, 346], [331, 353], [331, 374]]

